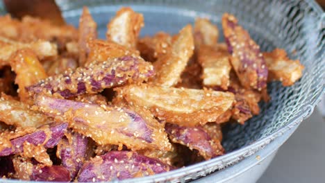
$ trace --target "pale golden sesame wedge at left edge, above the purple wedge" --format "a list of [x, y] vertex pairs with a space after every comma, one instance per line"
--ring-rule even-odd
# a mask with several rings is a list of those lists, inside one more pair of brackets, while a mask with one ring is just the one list
[[30, 110], [28, 105], [5, 94], [0, 98], [0, 121], [22, 128], [38, 128], [48, 123], [47, 116]]

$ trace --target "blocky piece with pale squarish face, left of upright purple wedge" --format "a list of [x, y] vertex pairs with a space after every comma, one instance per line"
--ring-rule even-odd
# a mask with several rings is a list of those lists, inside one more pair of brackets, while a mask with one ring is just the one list
[[203, 85], [228, 88], [231, 71], [229, 57], [222, 46], [200, 46], [197, 59], [202, 66]]

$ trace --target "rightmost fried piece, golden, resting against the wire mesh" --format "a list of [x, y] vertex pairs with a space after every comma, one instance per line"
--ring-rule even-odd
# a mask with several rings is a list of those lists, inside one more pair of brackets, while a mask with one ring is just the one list
[[285, 87], [291, 86], [302, 76], [303, 65], [299, 60], [290, 60], [283, 49], [263, 53], [269, 69], [268, 80], [279, 80]]

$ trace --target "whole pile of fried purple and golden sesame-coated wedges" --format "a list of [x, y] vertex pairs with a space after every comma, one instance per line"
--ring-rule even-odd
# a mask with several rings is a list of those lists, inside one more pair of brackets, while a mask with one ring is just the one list
[[293, 85], [299, 60], [260, 51], [229, 14], [176, 35], [139, 38], [122, 8], [106, 40], [83, 8], [79, 28], [0, 17], [0, 175], [99, 182], [172, 171], [224, 155], [222, 124], [258, 115], [267, 82]]

